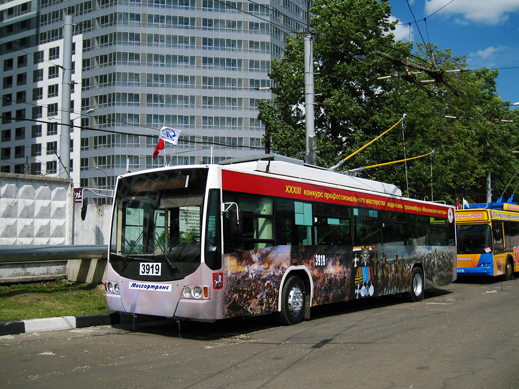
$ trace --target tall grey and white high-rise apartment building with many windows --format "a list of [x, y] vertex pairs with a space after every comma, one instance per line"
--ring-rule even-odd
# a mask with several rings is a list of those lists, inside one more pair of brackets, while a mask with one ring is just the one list
[[[63, 16], [74, 22], [74, 187], [166, 163], [263, 152], [271, 60], [304, 31], [299, 0], [0, 0], [0, 171], [57, 176]], [[265, 88], [265, 89], [262, 89]], [[162, 126], [179, 144], [153, 160]], [[166, 155], [166, 157], [165, 157]]]

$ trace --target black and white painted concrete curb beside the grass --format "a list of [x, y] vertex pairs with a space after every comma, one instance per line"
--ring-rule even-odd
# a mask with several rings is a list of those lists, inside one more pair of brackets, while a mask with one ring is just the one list
[[[139, 315], [135, 317], [135, 322], [149, 322], [155, 319], [157, 319], [156, 316]], [[26, 332], [59, 331], [63, 329], [129, 324], [132, 323], [133, 320], [133, 315], [121, 314], [119, 312], [105, 313], [101, 315], [29, 319], [17, 322], [0, 323], [0, 336], [25, 334]]]

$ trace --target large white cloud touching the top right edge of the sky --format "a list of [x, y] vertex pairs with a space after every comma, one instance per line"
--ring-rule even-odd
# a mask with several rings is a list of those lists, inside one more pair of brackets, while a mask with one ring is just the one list
[[431, 15], [436, 11], [435, 15], [461, 15], [465, 20], [495, 25], [519, 11], [519, 0], [426, 0], [425, 12]]

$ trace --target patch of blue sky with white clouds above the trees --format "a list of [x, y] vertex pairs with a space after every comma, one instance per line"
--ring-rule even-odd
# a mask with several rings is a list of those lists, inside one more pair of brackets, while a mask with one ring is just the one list
[[442, 50], [452, 49], [453, 55], [465, 55], [471, 69], [497, 68], [499, 96], [505, 102], [519, 102], [519, 0], [389, 3], [392, 17], [400, 21], [393, 32], [396, 38], [408, 41], [411, 34], [411, 40], [421, 41], [423, 36]]

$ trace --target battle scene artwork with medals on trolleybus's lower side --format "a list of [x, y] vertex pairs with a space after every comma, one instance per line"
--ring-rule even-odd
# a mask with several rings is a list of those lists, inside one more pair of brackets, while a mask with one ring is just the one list
[[311, 304], [320, 305], [404, 293], [415, 263], [425, 267], [426, 288], [443, 285], [453, 279], [452, 255], [451, 246], [389, 245], [285, 245], [225, 254], [223, 316], [277, 311], [282, 277], [291, 266], [308, 269]]

